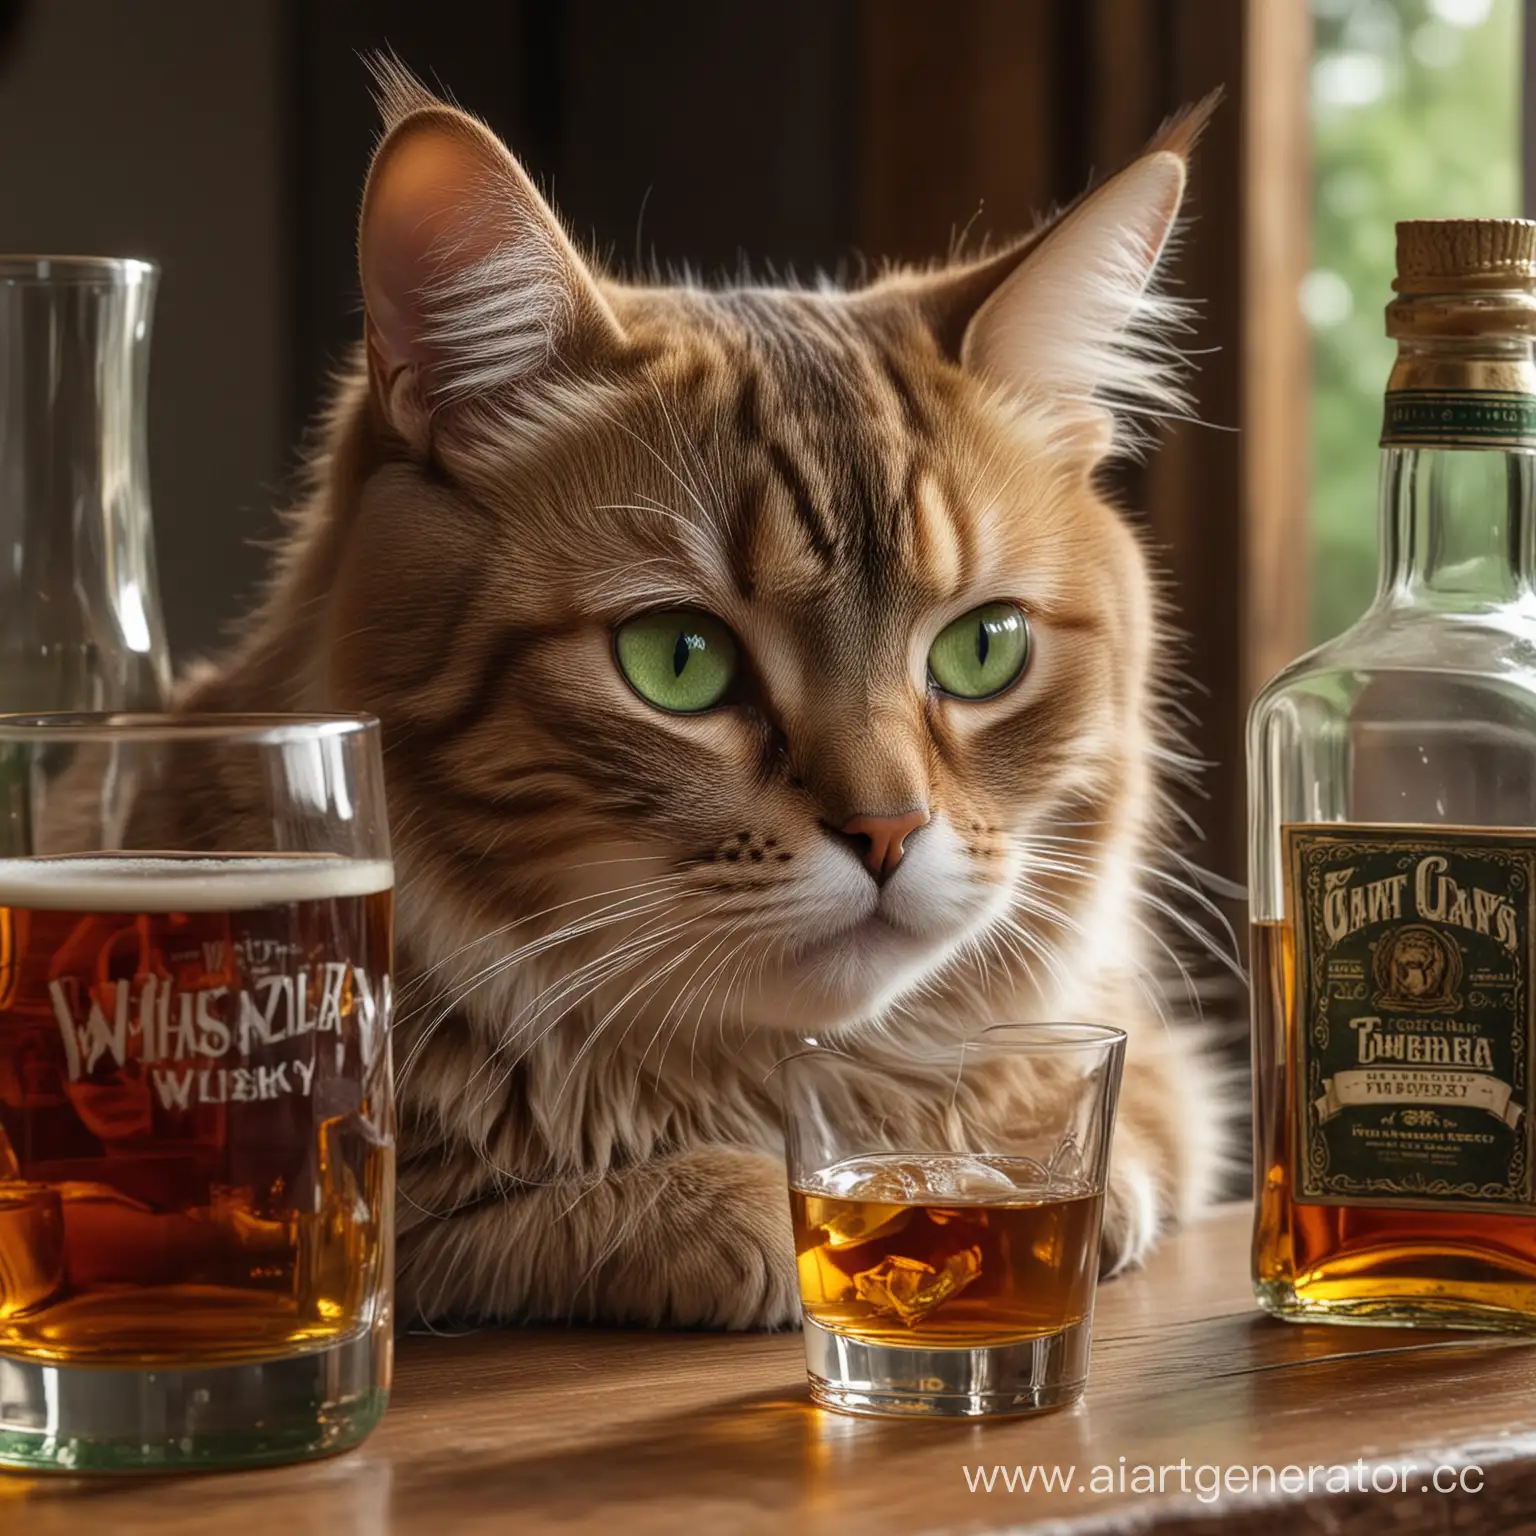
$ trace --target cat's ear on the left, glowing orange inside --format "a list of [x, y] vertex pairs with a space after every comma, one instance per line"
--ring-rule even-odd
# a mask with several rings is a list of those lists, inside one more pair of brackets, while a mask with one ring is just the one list
[[464, 401], [536, 387], [622, 343], [559, 220], [496, 135], [393, 61], [373, 66], [386, 132], [358, 229], [369, 372], [425, 453]]

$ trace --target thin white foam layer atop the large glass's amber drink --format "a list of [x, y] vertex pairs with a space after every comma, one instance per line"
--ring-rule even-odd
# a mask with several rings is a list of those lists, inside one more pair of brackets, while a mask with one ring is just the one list
[[372, 895], [395, 885], [387, 859], [253, 854], [81, 854], [0, 859], [0, 906], [68, 912], [214, 912]]

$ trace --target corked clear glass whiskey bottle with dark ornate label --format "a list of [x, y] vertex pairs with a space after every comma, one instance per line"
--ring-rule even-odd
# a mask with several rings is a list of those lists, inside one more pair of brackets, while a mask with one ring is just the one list
[[1393, 289], [1376, 596], [1249, 719], [1253, 1284], [1536, 1332], [1536, 223]]

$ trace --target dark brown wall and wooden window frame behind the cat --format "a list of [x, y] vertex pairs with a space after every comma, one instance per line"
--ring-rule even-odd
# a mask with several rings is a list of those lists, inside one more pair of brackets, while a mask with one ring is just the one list
[[1306, 46], [1304, 0], [0, 0], [0, 247], [164, 266], [154, 485], [187, 654], [247, 601], [358, 330], [362, 52], [484, 115], [611, 260], [705, 275], [1020, 232], [1224, 86], [1177, 266], [1207, 425], [1120, 490], [1187, 633], [1201, 857], [1241, 877], [1243, 714], [1304, 622]]

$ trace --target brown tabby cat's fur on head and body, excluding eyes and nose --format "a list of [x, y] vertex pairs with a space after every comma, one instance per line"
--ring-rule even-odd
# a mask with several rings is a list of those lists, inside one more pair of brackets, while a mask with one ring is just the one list
[[[711, 290], [598, 272], [482, 124], [381, 83], [364, 349], [186, 703], [384, 720], [404, 1307], [788, 1324], [774, 1061], [994, 1020], [1130, 1032], [1106, 1235], [1138, 1260], [1209, 1197], [1220, 1107], [1158, 983], [1166, 656], [1095, 472], [1181, 404], [1154, 276], [1204, 114], [985, 260]], [[934, 636], [1003, 598], [1023, 680], [938, 694]], [[702, 716], [614, 665], [673, 605], [745, 657]], [[911, 806], [882, 886], [831, 828]]]

